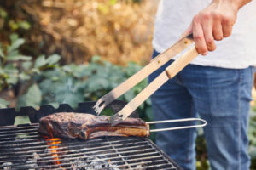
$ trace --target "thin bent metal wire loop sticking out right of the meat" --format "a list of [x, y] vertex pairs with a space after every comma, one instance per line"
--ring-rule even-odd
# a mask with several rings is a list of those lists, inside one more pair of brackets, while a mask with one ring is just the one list
[[174, 119], [174, 120], [166, 120], [166, 121], [153, 121], [153, 122], [146, 122], [147, 124], [159, 124], [159, 123], [166, 123], [166, 122], [194, 122], [199, 121], [202, 124], [199, 125], [189, 125], [183, 127], [168, 127], [168, 128], [159, 128], [159, 129], [152, 129], [150, 130], [151, 133], [161, 132], [161, 131], [169, 131], [169, 130], [178, 130], [178, 129], [185, 129], [185, 128], [195, 128], [195, 127], [205, 127], [207, 126], [207, 121], [200, 118], [185, 118], [185, 119]]

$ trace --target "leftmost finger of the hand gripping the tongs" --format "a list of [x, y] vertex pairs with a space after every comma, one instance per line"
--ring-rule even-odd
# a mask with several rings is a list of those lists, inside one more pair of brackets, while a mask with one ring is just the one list
[[205, 41], [201, 23], [199, 20], [197, 20], [197, 17], [195, 17], [192, 22], [192, 29], [195, 41], [195, 48], [197, 49], [197, 52], [201, 55], [207, 55], [207, 43]]

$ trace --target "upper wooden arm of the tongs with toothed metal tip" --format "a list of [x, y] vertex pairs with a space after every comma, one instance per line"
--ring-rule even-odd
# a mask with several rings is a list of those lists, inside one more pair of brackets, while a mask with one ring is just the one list
[[136, 74], [128, 78], [125, 82], [119, 84], [117, 88], [114, 88], [108, 94], [102, 96], [101, 99], [98, 99], [96, 105], [94, 105], [94, 110], [97, 115], [100, 115], [102, 110], [109, 105], [113, 100], [118, 99], [119, 96], [125, 94], [129, 89], [133, 88], [138, 82], [143, 81], [148, 77], [152, 72], [156, 71], [162, 65], [165, 65], [169, 60], [174, 56], [183, 51], [183, 49], [188, 48], [192, 44], [193, 35], [190, 34], [187, 37], [183, 37], [177, 43], [175, 43], [171, 48], [166, 49], [165, 52], [159, 54], [157, 57], [152, 59], [150, 63], [143, 67], [142, 70], [137, 71]]

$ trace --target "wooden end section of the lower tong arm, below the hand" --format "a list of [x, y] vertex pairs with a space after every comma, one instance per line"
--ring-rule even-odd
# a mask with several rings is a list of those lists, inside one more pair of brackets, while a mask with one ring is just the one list
[[189, 63], [195, 59], [195, 57], [198, 55], [195, 44], [192, 46], [192, 48], [189, 48], [188, 51], [186, 51], [181, 57], [173, 61], [172, 65], [169, 65], [166, 68], [166, 74], [169, 78], [175, 77], [177, 73], [186, 65], [189, 65]]

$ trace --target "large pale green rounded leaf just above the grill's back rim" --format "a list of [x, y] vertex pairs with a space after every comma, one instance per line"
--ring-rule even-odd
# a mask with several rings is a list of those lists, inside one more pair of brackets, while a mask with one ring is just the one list
[[33, 84], [25, 94], [26, 105], [38, 108], [42, 101], [42, 93], [37, 84]]

